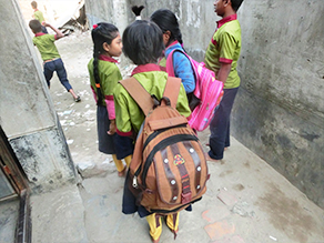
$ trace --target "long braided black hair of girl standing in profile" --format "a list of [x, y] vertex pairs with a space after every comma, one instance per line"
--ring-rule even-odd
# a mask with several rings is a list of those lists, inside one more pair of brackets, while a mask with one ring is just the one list
[[[108, 44], [111, 44], [111, 42], [118, 37], [118, 28], [111, 23], [100, 22], [93, 26], [93, 29], [91, 31], [93, 42], [93, 77], [97, 84], [100, 84], [98, 60], [99, 55], [104, 53], [103, 43], [107, 42]], [[97, 104], [101, 104], [103, 95], [101, 93], [100, 85], [97, 87]]]

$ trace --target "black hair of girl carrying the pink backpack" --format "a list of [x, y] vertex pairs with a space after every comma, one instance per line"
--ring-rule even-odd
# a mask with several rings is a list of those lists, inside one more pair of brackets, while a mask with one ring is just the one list
[[172, 11], [169, 9], [159, 9], [152, 13], [150, 19], [160, 27], [163, 33], [168, 30], [171, 32], [166, 47], [174, 40], [178, 40], [181, 44], [183, 43], [176, 16]]

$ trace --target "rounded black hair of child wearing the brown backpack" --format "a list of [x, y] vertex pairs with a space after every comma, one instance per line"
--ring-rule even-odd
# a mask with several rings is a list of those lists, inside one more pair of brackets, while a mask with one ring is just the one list
[[136, 20], [123, 32], [123, 52], [134, 64], [156, 63], [164, 44], [161, 29], [151, 21]]

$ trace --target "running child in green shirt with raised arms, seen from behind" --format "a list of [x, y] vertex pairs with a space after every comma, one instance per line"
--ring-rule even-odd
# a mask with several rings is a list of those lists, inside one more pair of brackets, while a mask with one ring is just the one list
[[53, 72], [55, 71], [60, 82], [70, 92], [75, 102], [81, 101], [81, 98], [77, 95], [69, 83], [67, 71], [63, 64], [63, 61], [59, 54], [59, 51], [54, 44], [55, 40], [64, 37], [61, 31], [57, 28], [52, 27], [50, 23], [45, 23], [45, 27], [51, 28], [57, 34], [45, 34], [42, 32], [42, 26], [39, 20], [31, 20], [29, 22], [29, 27], [34, 33], [34, 38], [32, 39], [33, 44], [38, 48], [39, 52], [41, 53], [41, 58], [43, 60], [44, 65], [44, 77], [50, 88], [50, 80], [53, 77]]

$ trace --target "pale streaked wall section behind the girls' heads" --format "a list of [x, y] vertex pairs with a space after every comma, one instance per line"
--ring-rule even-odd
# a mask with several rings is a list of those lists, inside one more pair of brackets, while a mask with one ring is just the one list
[[142, 19], [149, 19], [160, 8], [170, 9], [179, 18], [185, 50], [202, 61], [215, 30], [215, 20], [219, 19], [213, 12], [213, 0], [85, 0], [85, 9], [90, 26], [108, 21], [115, 24], [121, 33], [135, 20], [131, 11], [132, 6], [145, 6]]

